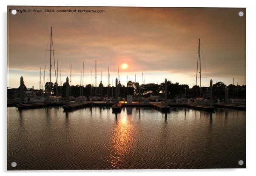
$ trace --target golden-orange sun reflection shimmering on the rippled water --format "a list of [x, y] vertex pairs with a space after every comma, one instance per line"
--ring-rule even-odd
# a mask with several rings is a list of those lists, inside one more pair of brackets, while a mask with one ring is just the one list
[[119, 116], [110, 136], [110, 155], [108, 162], [113, 168], [122, 168], [125, 158], [135, 146], [137, 133], [127, 114]]

